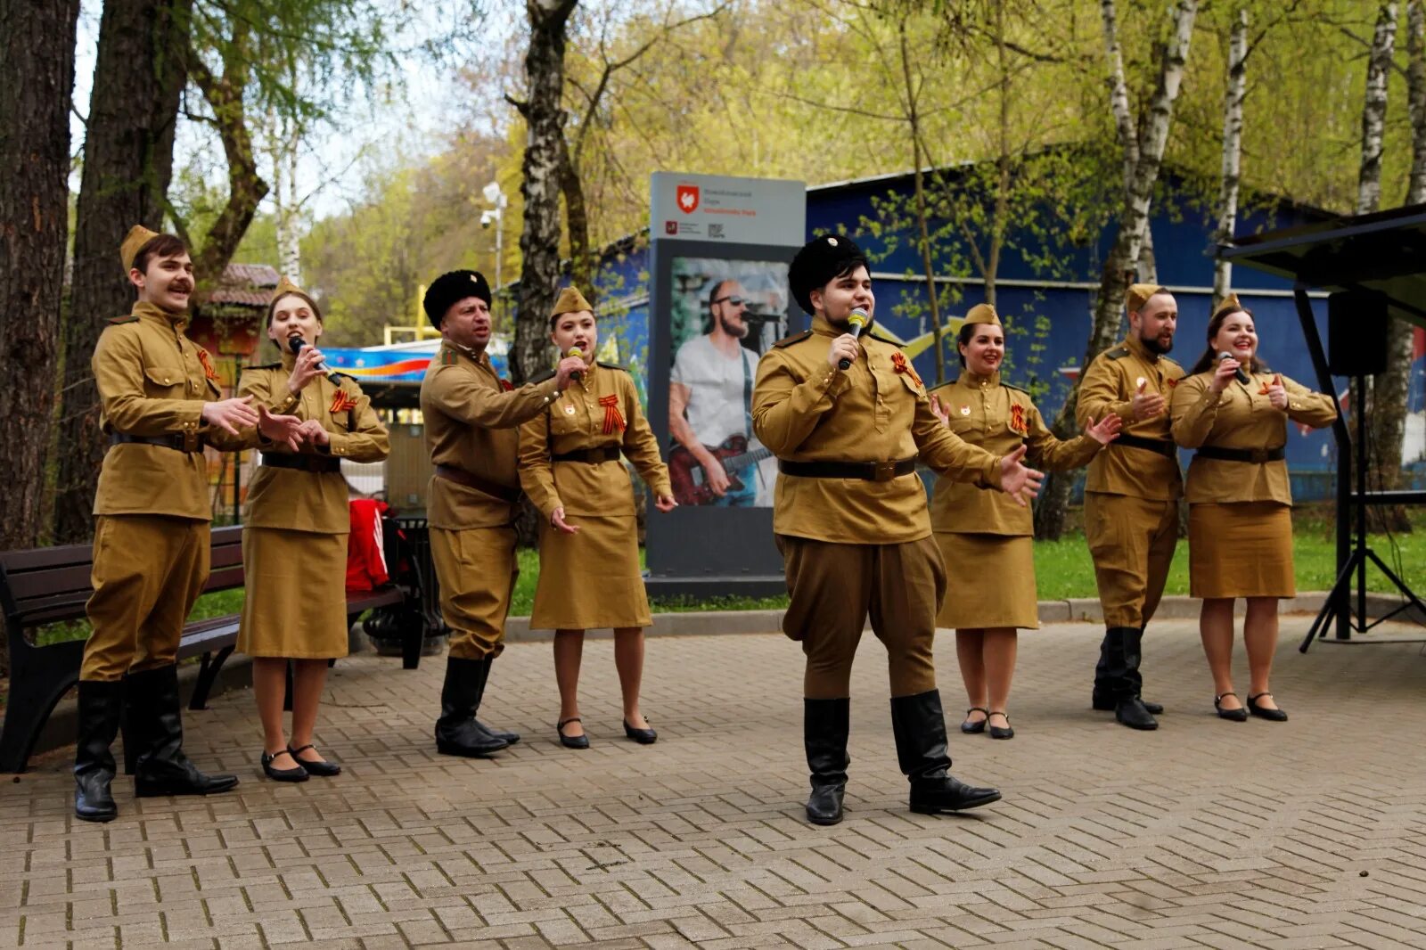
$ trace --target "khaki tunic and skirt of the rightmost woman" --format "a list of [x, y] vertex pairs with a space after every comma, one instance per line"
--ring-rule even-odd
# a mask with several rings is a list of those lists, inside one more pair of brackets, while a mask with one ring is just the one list
[[[1214, 372], [1185, 378], [1174, 392], [1174, 438], [1184, 448], [1278, 449], [1288, 419], [1319, 428], [1336, 418], [1336, 399], [1292, 379], [1256, 372], [1214, 392]], [[1268, 387], [1281, 379], [1288, 408]], [[1188, 466], [1188, 568], [1195, 598], [1291, 598], [1292, 488], [1282, 458], [1236, 461], [1194, 455]]]

